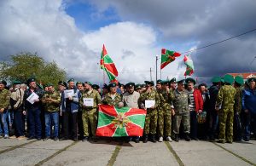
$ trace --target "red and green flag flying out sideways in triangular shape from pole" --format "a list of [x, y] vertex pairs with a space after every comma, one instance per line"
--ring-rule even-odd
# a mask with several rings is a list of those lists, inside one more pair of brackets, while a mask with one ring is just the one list
[[181, 54], [170, 51], [168, 49], [162, 49], [161, 50], [161, 66], [160, 69], [163, 69], [165, 66], [167, 66], [169, 63], [174, 61], [176, 57], [180, 56]]

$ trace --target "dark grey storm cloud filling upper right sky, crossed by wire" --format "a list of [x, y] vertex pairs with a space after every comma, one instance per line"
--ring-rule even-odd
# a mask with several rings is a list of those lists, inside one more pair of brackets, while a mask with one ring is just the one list
[[[96, 3], [97, 4], [97, 3]], [[231, 1], [109, 1], [123, 20], [152, 24], [160, 31], [161, 43], [198, 43], [200, 48], [256, 28], [254, 0]], [[104, 6], [105, 5], [105, 6]], [[183, 48], [189, 49], [189, 48]], [[186, 50], [183, 50], [186, 51]], [[192, 54], [195, 76], [211, 77], [227, 72], [256, 71], [256, 31]]]

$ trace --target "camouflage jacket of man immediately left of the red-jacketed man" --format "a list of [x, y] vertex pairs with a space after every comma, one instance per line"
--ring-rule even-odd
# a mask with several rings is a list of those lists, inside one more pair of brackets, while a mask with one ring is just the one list
[[171, 93], [171, 100], [174, 111], [177, 114], [189, 112], [190, 99], [187, 90], [183, 89], [183, 91], [178, 91], [177, 89], [175, 89]]

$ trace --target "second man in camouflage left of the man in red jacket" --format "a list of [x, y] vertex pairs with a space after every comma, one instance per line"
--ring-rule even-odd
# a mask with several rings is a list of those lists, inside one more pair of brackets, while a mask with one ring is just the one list
[[[163, 136], [166, 136], [167, 141], [172, 141], [172, 108], [171, 108], [171, 94], [170, 89], [167, 87], [168, 81], [161, 82], [160, 92], [160, 109], [158, 111], [158, 125], [160, 130], [160, 139], [163, 141]], [[165, 129], [164, 129], [165, 127]], [[164, 130], [166, 131], [164, 135]]]

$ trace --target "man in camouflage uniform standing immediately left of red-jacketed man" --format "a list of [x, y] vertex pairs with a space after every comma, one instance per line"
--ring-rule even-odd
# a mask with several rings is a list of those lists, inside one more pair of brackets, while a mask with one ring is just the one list
[[183, 123], [184, 139], [189, 141], [190, 122], [189, 122], [189, 94], [184, 89], [184, 80], [177, 82], [177, 89], [171, 94], [171, 100], [174, 107], [174, 122], [173, 133], [175, 134], [175, 141], [179, 141], [179, 127]]

